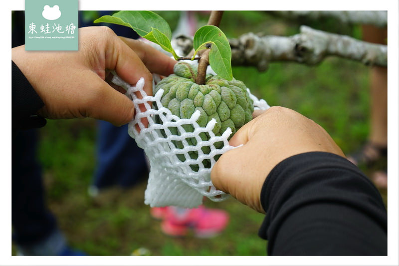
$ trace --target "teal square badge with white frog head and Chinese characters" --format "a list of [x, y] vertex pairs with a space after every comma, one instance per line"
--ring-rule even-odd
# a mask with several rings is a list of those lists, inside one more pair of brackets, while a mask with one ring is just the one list
[[78, 0], [25, 0], [25, 50], [78, 50]]

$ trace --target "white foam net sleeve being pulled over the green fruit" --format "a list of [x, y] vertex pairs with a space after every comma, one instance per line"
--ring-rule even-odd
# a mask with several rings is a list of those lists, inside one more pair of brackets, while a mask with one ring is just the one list
[[[212, 70], [208, 71], [212, 73]], [[154, 77], [157, 80], [157, 77]], [[136, 86], [130, 86], [115, 73], [112, 82], [127, 90], [126, 95], [133, 100], [136, 108], [135, 119], [129, 123], [128, 133], [144, 149], [150, 162], [150, 174], [145, 192], [145, 204], [151, 207], [179, 206], [185, 208], [198, 207], [202, 203], [203, 196], [212, 201], [222, 201], [228, 197], [224, 192], [217, 190], [210, 180], [210, 170], [215, 164], [214, 157], [233, 149], [228, 145], [228, 137], [231, 129], [227, 128], [221, 136], [215, 136], [212, 132], [216, 121], [210, 120], [206, 127], [200, 127], [196, 122], [200, 117], [200, 111], [195, 112], [190, 119], [180, 119], [162, 106], [161, 97], [164, 90], [161, 88], [154, 96], [149, 96], [143, 90], [144, 78], [141, 78]], [[249, 92], [249, 89], [247, 89]], [[138, 95], [141, 97], [138, 97]], [[249, 92], [254, 102], [254, 109], [266, 110], [269, 105], [264, 100], [259, 100]], [[156, 103], [157, 109], [154, 109]], [[145, 106], [145, 111], [140, 106]], [[142, 108], [144, 109], [144, 108]], [[158, 119], [155, 119], [158, 117]], [[143, 124], [143, 118], [148, 120], [148, 127]], [[158, 123], [156, 122], [158, 120]], [[161, 121], [161, 122], [160, 122]], [[192, 125], [194, 132], [186, 132], [183, 125]], [[169, 128], [178, 128], [180, 135], [173, 135]], [[140, 130], [138, 130], [138, 128]], [[201, 132], [207, 132], [210, 139], [202, 141]], [[188, 138], [196, 138], [197, 145], [189, 145]], [[183, 143], [183, 149], [174, 145], [175, 141]], [[214, 143], [223, 141], [223, 147], [216, 149]], [[202, 146], [209, 146], [210, 153], [204, 154]], [[198, 158], [192, 159], [189, 152], [198, 152]], [[177, 154], [183, 154], [186, 158], [182, 162]], [[203, 160], [210, 160], [211, 167], [205, 168]], [[193, 171], [190, 165], [198, 165], [198, 172]]]

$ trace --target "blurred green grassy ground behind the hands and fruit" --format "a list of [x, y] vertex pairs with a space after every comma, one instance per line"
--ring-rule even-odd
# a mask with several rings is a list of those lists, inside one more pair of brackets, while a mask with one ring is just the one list
[[[177, 13], [168, 15], [173, 21]], [[223, 19], [220, 27], [228, 37], [248, 31], [282, 35], [298, 32], [298, 24], [283, 23], [263, 12], [230, 11], [225, 12]], [[323, 21], [319, 28], [339, 32], [335, 25]], [[339, 30], [360, 37], [358, 27]], [[339, 58], [329, 58], [312, 67], [273, 63], [263, 73], [253, 68], [233, 68], [234, 77], [243, 80], [256, 96], [270, 105], [289, 107], [312, 118], [345, 153], [359, 147], [367, 138], [368, 71], [360, 63]], [[48, 120], [39, 130], [38, 156], [44, 169], [47, 202], [71, 246], [89, 255], [130, 255], [141, 247], [155, 256], [266, 254], [267, 243], [257, 237], [263, 215], [234, 199], [222, 203], [205, 201], [207, 207], [226, 210], [230, 223], [218, 237], [203, 240], [163, 235], [160, 222], [151, 219], [150, 208], [143, 203], [145, 182], [129, 190], [110, 190], [96, 200], [90, 198], [87, 187], [96, 164], [95, 128], [96, 123], [91, 119], [76, 119]]]

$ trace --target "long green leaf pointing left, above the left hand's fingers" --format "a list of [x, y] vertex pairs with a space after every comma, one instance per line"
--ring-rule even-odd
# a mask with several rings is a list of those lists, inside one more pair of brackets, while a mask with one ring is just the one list
[[172, 31], [168, 22], [152, 11], [118, 11], [94, 20], [94, 23], [99, 22], [131, 27], [141, 37], [155, 42], [178, 58], [171, 45]]

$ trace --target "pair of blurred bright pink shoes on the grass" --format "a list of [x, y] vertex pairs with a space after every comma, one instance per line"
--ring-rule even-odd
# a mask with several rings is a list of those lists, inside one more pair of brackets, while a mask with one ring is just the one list
[[226, 212], [202, 205], [194, 209], [170, 207], [161, 228], [169, 236], [183, 237], [193, 229], [196, 237], [211, 238], [226, 228], [228, 219]]

